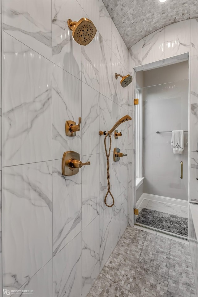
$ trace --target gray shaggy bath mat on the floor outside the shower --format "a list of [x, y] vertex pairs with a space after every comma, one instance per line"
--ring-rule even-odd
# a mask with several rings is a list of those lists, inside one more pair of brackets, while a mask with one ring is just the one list
[[178, 215], [143, 208], [136, 218], [136, 223], [188, 237], [188, 219]]

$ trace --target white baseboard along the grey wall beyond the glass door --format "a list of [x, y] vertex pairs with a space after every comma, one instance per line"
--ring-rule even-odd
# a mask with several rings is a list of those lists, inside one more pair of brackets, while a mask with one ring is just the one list
[[174, 205], [181, 206], [181, 207], [188, 207], [188, 201], [143, 193], [141, 195], [141, 197], [138, 199], [137, 203], [136, 203], [136, 208], [138, 208], [140, 206], [140, 204], [142, 203], [142, 201], [144, 199], [157, 201], [157, 202], [164, 202], [164, 203], [174, 204]]

